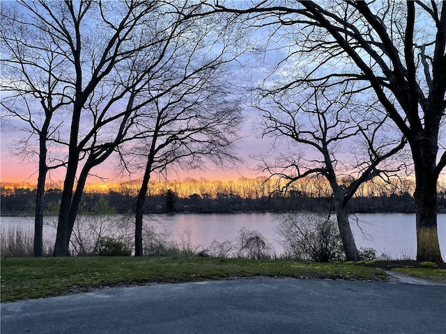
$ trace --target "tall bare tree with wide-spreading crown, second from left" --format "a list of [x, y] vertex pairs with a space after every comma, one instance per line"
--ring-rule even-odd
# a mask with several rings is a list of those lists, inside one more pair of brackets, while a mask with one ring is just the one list
[[[184, 36], [181, 42], [187, 36], [193, 38], [190, 21], [201, 15], [202, 5], [188, 1], [41, 0], [19, 1], [18, 6], [20, 10], [2, 6], [2, 22], [6, 19], [19, 32], [32, 31], [45, 43], [36, 42], [38, 38], [20, 38], [19, 33], [11, 37], [6, 33], [9, 29], [5, 31], [3, 40], [8, 43], [9, 53], [3, 61], [11, 74], [8, 88], [10, 92], [19, 92], [16, 95], [26, 93], [26, 104], [36, 97], [40, 99], [44, 105], [22, 120], [29, 120], [33, 134], [46, 136], [66, 153], [54, 247], [55, 256], [66, 256], [86, 178], [124, 140], [134, 122], [134, 113], [155, 98], [147, 95], [148, 100], [138, 99], [148, 83], [157, 80], [160, 68], [164, 68], [162, 72], [167, 72], [166, 68], [173, 70], [174, 62], [169, 61], [171, 49], [180, 47], [178, 35]], [[26, 63], [28, 54], [35, 54], [38, 61]], [[33, 67], [43, 74], [31, 75]], [[17, 79], [22, 74], [26, 87]], [[171, 79], [170, 86], [159, 90], [157, 97], [178, 85], [174, 76]], [[8, 95], [10, 106], [13, 95]], [[49, 133], [45, 127], [32, 126], [46, 109], [52, 116], [45, 114]], [[56, 112], [60, 124], [54, 118]], [[42, 143], [39, 154], [44, 157], [47, 141]], [[45, 179], [39, 178], [39, 182], [39, 189], [44, 189]]]

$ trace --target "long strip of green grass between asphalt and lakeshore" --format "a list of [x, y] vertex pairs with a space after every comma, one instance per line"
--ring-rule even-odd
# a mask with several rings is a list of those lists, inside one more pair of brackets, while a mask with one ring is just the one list
[[12, 257], [1, 260], [1, 301], [57, 296], [105, 286], [255, 276], [387, 278], [378, 269], [341, 263], [212, 257]]

